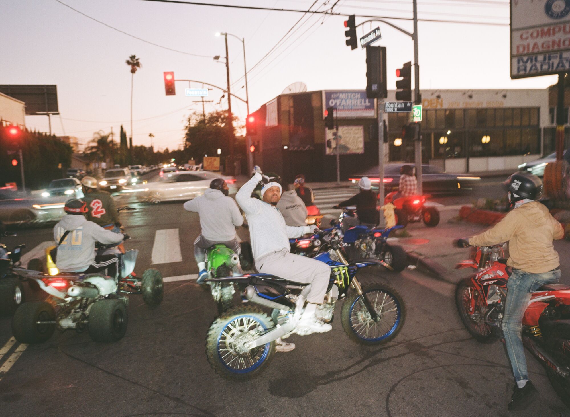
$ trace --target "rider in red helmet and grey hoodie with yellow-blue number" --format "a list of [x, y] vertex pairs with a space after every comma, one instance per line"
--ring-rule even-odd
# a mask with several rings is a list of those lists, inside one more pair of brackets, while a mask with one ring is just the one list
[[116, 255], [95, 256], [95, 242], [120, 243], [125, 236], [89, 222], [85, 217], [88, 209], [84, 201], [67, 201], [64, 211], [67, 215], [54, 227], [59, 271], [93, 273], [107, 269], [107, 275], [115, 278], [119, 258]]

